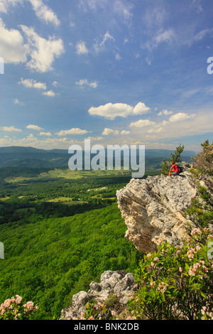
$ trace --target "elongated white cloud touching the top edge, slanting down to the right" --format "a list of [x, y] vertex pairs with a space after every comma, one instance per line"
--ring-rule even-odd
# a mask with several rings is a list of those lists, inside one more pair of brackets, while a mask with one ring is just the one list
[[60, 20], [52, 9], [48, 8], [41, 0], [28, 0], [31, 2], [36, 16], [45, 23], [53, 23], [55, 26], [60, 25]]

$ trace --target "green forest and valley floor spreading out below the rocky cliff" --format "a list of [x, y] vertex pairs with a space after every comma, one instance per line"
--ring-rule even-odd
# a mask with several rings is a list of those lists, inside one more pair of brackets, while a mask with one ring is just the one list
[[58, 319], [103, 271], [132, 272], [143, 258], [116, 204], [131, 173], [66, 173], [1, 168], [0, 303], [18, 294], [38, 305], [35, 319]]

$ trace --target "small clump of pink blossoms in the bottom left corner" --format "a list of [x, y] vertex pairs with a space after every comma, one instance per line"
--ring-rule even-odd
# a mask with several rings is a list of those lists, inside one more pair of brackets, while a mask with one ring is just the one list
[[33, 301], [23, 304], [21, 296], [16, 295], [6, 299], [0, 306], [0, 320], [26, 320], [38, 306], [34, 306]]

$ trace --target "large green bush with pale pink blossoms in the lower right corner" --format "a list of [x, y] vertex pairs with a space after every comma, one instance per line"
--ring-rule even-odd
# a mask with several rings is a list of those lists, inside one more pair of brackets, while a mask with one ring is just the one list
[[136, 271], [139, 289], [130, 302], [137, 319], [213, 320], [212, 240], [209, 229], [196, 228], [181, 248], [165, 242], [158, 252], [146, 254]]

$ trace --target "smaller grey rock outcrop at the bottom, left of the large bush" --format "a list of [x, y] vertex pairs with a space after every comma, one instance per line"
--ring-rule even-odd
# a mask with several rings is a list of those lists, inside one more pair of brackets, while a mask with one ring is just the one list
[[80, 291], [72, 297], [72, 305], [61, 311], [60, 319], [80, 319], [81, 313], [85, 312], [88, 301], [94, 300], [97, 303], [103, 303], [111, 295], [118, 298], [122, 308], [133, 296], [138, 285], [133, 274], [123, 270], [108, 270], [101, 275], [100, 283], [92, 282], [89, 284], [89, 288], [89, 291]]

